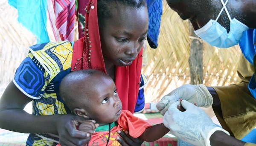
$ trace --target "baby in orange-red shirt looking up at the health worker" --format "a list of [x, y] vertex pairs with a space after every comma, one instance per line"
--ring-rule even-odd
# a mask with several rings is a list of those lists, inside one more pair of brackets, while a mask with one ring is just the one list
[[[119, 146], [116, 140], [118, 130], [128, 130], [132, 137], [147, 142], [158, 140], [169, 132], [163, 123], [152, 126], [131, 112], [122, 110], [113, 80], [101, 71], [77, 70], [69, 73], [61, 81], [60, 95], [73, 114], [89, 117], [96, 121], [95, 125], [99, 124], [91, 133], [87, 145]], [[88, 125], [80, 124], [78, 129], [87, 130]]]

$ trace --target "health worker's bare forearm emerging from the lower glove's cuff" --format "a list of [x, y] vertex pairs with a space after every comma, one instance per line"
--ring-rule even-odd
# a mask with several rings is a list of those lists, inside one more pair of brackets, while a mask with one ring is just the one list
[[216, 131], [210, 137], [211, 146], [244, 146], [245, 142], [233, 138], [222, 131]]

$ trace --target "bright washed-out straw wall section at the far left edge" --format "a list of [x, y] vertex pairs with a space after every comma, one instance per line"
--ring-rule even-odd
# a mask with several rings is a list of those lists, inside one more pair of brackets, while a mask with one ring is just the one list
[[0, 92], [12, 80], [35, 37], [17, 22], [17, 10], [0, 1]]

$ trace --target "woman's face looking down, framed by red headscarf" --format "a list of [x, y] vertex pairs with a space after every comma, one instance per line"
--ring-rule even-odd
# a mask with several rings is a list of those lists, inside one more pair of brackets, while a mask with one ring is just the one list
[[148, 33], [148, 10], [116, 5], [100, 28], [105, 64], [128, 66], [137, 57]]

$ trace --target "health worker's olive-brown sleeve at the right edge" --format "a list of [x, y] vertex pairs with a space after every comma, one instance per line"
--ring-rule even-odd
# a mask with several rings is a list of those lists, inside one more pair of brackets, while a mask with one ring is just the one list
[[[256, 100], [248, 89], [247, 82], [230, 84], [229, 86], [212, 87], [218, 94], [220, 105], [212, 105], [218, 121], [223, 129], [227, 130], [231, 136], [238, 139], [243, 138], [256, 124], [255, 115], [250, 115], [256, 110]], [[234, 121], [234, 118], [244, 119]], [[225, 119], [225, 120], [224, 120]], [[238, 125], [243, 130], [237, 129]]]

